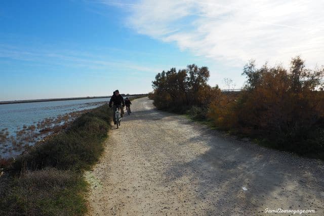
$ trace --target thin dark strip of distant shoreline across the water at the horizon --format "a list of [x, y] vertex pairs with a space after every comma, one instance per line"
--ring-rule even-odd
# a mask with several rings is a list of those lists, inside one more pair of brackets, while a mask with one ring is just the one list
[[[146, 95], [146, 94], [121, 94], [123, 97], [133, 97], [138, 95]], [[111, 96], [99, 96], [99, 97], [68, 97], [68, 98], [52, 98], [52, 99], [35, 99], [35, 100], [12, 100], [12, 101], [0, 101], [0, 105], [2, 104], [12, 104], [12, 103], [35, 103], [35, 102], [49, 102], [49, 101], [62, 101], [62, 100], [84, 100], [84, 99], [96, 99], [96, 98], [108, 98]]]

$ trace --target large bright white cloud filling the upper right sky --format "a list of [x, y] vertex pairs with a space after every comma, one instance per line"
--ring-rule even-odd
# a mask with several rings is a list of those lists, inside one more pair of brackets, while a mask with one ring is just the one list
[[131, 10], [128, 26], [180, 49], [233, 66], [249, 59], [324, 64], [322, 0], [142, 0], [101, 3]]

